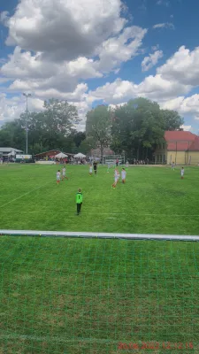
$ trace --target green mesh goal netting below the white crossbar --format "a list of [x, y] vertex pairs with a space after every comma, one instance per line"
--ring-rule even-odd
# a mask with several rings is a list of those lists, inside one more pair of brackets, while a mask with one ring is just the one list
[[0, 353], [199, 352], [199, 243], [0, 242]]

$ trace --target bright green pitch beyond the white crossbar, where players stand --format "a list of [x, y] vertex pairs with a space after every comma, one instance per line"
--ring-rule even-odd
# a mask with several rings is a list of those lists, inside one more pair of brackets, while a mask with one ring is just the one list
[[[111, 189], [113, 169], [67, 166], [69, 181], [57, 186], [55, 165], [0, 166], [1, 228], [198, 235], [199, 169], [129, 167], [126, 185]], [[82, 188], [80, 217], [75, 194]]]

